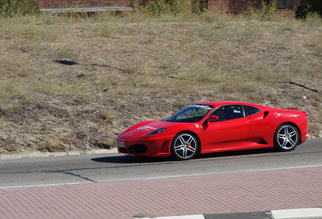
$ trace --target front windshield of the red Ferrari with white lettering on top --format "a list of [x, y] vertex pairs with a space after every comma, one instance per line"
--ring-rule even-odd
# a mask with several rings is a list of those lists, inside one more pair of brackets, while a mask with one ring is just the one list
[[165, 121], [168, 122], [198, 122], [204, 118], [214, 106], [204, 104], [193, 104], [181, 109]]

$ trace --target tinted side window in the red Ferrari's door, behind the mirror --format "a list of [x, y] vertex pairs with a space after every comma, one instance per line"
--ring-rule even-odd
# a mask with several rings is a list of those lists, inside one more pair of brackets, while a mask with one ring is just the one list
[[225, 105], [217, 108], [212, 115], [218, 117], [217, 121], [212, 122], [221, 122], [242, 118], [244, 117], [244, 111], [241, 105]]

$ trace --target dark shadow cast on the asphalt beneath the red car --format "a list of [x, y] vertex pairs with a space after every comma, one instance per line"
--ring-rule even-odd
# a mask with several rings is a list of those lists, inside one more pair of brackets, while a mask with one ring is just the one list
[[[229, 152], [216, 152], [209, 154], [197, 154], [193, 159], [189, 160], [200, 161], [203, 159], [216, 159], [224, 157], [237, 157], [237, 156], [246, 156], [253, 155], [256, 156], [272, 156], [271, 153], [276, 153], [275, 150], [268, 149], [254, 149], [254, 150], [243, 150], [243, 151], [229, 151]], [[177, 161], [172, 157], [143, 157], [136, 155], [120, 155], [120, 156], [111, 156], [111, 157], [100, 157], [91, 159], [95, 162], [101, 163], [119, 163], [119, 164], [134, 164], [134, 163], [164, 163], [164, 162], [189, 162], [189, 161]]]

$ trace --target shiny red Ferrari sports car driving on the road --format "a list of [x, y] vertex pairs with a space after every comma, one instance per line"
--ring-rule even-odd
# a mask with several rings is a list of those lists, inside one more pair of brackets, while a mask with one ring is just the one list
[[197, 153], [275, 148], [291, 151], [307, 139], [307, 114], [238, 101], [187, 106], [165, 120], [136, 124], [117, 137], [119, 153], [189, 160]]

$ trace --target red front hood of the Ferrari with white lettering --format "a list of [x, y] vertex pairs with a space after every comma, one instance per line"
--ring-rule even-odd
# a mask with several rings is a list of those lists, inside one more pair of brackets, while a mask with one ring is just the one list
[[[120, 134], [119, 137], [123, 139], [144, 139], [144, 138], [152, 138], [152, 137], [158, 137], [158, 136], [164, 136], [164, 135], [172, 135], [190, 126], [192, 128], [193, 127], [196, 128], [196, 126], [191, 123], [166, 122], [166, 121], [160, 121], [160, 120], [147, 121], [130, 127], [125, 132]], [[146, 136], [147, 134], [155, 130], [158, 130], [160, 128], [166, 128], [167, 130], [154, 135]], [[191, 128], [188, 128], [188, 129], [191, 130]]]

